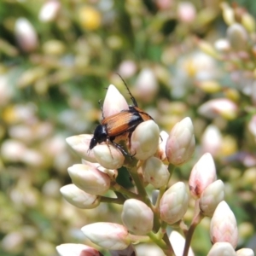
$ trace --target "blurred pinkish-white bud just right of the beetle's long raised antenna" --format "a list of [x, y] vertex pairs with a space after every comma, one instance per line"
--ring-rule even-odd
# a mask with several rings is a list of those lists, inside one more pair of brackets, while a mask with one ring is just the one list
[[137, 88], [137, 96], [143, 102], [151, 102], [158, 90], [159, 84], [154, 72], [150, 68], [143, 68], [137, 77], [135, 86]]

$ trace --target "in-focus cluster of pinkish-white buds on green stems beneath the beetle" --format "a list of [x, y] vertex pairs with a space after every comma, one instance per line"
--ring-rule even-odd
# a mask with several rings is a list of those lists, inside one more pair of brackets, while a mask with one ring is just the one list
[[[110, 85], [102, 109], [104, 118], [127, 107], [124, 97]], [[172, 183], [174, 167], [186, 163], [195, 151], [191, 119], [181, 120], [169, 135], [160, 132], [154, 120], [137, 125], [122, 144], [131, 156], [124, 156], [108, 140], [89, 150], [91, 138], [92, 135], [67, 138], [69, 146], [83, 160], [82, 164], [68, 168], [73, 184], [62, 187], [61, 194], [82, 209], [95, 208], [102, 202], [123, 205], [122, 224], [99, 222], [82, 228], [84, 236], [97, 247], [109, 250], [112, 255], [135, 255], [137, 247], [133, 244], [153, 242], [162, 250], [162, 254], [157, 255], [194, 255], [190, 248], [194, 230], [202, 218], [210, 217], [213, 246], [208, 255], [253, 255], [251, 249], [235, 251], [236, 218], [224, 201], [224, 183], [217, 179], [211, 154], [203, 154], [195, 163], [189, 187], [182, 181]], [[117, 182], [121, 166], [127, 168], [134, 189], [125, 189]], [[148, 184], [154, 187], [152, 195], [146, 189]], [[107, 196], [109, 190], [116, 196]], [[183, 216], [189, 201], [195, 201], [195, 214], [187, 226]], [[184, 238], [177, 231], [167, 231], [174, 225], [179, 226]], [[57, 251], [69, 256], [102, 255], [97, 249], [81, 244], [63, 244]]]

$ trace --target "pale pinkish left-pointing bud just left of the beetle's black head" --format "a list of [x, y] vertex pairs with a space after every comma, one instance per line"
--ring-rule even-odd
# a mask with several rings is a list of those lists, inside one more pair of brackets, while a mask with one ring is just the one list
[[84, 160], [88, 160], [92, 163], [96, 163], [97, 160], [93, 154], [93, 151], [88, 151], [90, 146], [90, 140], [92, 135], [81, 134], [72, 137], [67, 137], [66, 142], [76, 154], [79, 154]]

